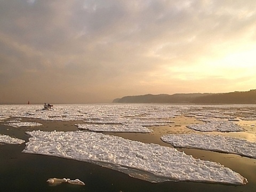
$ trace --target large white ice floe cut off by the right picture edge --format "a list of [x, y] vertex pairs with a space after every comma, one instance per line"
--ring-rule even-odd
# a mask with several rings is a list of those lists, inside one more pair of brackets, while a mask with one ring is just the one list
[[168, 134], [162, 141], [174, 147], [197, 148], [256, 158], [256, 143], [223, 135]]

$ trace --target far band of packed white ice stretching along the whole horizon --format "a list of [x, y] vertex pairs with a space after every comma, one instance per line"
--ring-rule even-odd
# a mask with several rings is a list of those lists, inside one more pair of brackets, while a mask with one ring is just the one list
[[[245, 119], [253, 121], [255, 105], [167, 105], [167, 104], [103, 104], [54, 105], [54, 110], [42, 110], [43, 105], [0, 105], [0, 121], [10, 117], [37, 118], [45, 121], [85, 121], [90, 123], [135, 123], [142, 126], [170, 124], [170, 118]], [[144, 123], [144, 124], [143, 124]], [[150, 124], [147, 124], [150, 123]], [[147, 124], [147, 125], [146, 125]]]

